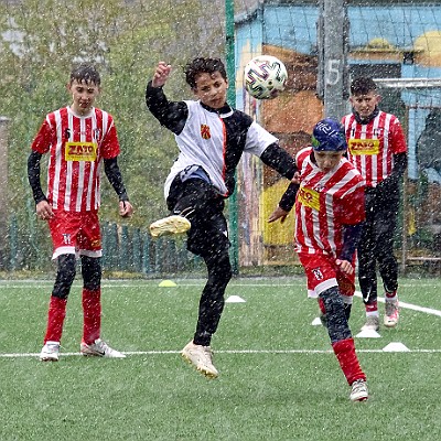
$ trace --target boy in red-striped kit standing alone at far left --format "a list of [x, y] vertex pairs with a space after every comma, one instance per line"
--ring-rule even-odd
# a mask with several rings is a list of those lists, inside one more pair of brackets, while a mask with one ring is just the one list
[[[119, 197], [119, 214], [132, 214], [119, 171], [120, 152], [114, 118], [94, 107], [100, 92], [99, 73], [83, 64], [71, 73], [67, 90], [73, 103], [49, 114], [32, 142], [28, 176], [36, 216], [49, 223], [52, 258], [57, 273], [47, 314], [43, 362], [57, 362], [66, 303], [79, 256], [83, 276], [84, 326], [80, 353], [99, 357], [125, 357], [100, 340], [101, 235], [98, 222], [101, 163]], [[42, 155], [50, 153], [47, 195], [40, 181]]]

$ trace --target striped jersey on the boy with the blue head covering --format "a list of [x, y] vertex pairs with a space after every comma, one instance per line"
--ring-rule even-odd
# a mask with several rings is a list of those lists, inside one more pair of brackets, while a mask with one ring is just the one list
[[299, 151], [301, 175], [295, 200], [295, 250], [337, 257], [343, 247], [343, 225], [365, 218], [364, 180], [351, 162], [322, 172], [311, 160], [312, 148]]

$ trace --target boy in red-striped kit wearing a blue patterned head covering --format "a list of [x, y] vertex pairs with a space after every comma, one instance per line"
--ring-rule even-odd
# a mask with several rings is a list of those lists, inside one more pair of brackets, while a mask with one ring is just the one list
[[[355, 249], [365, 218], [364, 181], [343, 157], [343, 127], [333, 119], [319, 121], [312, 147], [295, 157], [300, 190], [295, 200], [295, 250], [306, 273], [309, 297], [318, 298], [322, 322], [343, 374], [352, 387], [349, 399], [368, 398], [366, 376], [348, 326], [355, 291]], [[284, 220], [293, 205], [293, 184], [270, 215]]]

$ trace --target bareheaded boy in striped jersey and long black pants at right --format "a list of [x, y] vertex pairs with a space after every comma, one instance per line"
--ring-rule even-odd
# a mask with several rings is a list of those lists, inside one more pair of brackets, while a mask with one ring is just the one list
[[358, 245], [358, 282], [366, 309], [363, 329], [378, 331], [377, 262], [386, 300], [384, 324], [394, 327], [399, 320], [394, 234], [399, 181], [407, 168], [407, 147], [398, 118], [379, 110], [380, 96], [372, 78], [355, 78], [349, 100], [353, 112], [342, 120], [347, 157], [366, 181], [366, 222]]

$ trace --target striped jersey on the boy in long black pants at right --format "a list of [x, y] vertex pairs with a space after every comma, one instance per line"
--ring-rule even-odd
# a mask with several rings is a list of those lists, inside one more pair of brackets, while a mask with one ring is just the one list
[[394, 154], [406, 153], [406, 138], [395, 115], [379, 111], [368, 123], [356, 121], [354, 114], [342, 119], [347, 139], [347, 157], [366, 181], [377, 186], [394, 169]]

